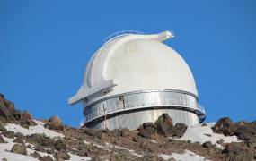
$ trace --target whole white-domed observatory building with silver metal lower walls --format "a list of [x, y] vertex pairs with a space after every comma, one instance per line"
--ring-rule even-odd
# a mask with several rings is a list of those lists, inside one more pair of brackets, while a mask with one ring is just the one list
[[84, 123], [94, 129], [137, 129], [163, 113], [173, 123], [205, 120], [188, 64], [163, 44], [172, 32], [121, 32], [108, 38], [87, 64], [82, 87], [69, 104], [83, 102]]

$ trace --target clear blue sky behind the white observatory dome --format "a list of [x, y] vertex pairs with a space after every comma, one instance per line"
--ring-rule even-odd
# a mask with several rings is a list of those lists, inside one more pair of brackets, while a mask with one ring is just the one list
[[[190, 65], [207, 122], [256, 119], [256, 1], [1, 1], [0, 92], [36, 118], [77, 126], [67, 98], [88, 59], [119, 30], [158, 33]], [[170, 73], [172, 74], [172, 73]]]

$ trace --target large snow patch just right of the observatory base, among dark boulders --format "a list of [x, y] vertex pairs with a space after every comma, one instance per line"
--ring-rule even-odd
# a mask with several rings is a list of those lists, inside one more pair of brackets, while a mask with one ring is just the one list
[[215, 123], [207, 123], [207, 126], [202, 126], [201, 124], [191, 125], [180, 139], [175, 140], [199, 141], [201, 144], [206, 141], [211, 141], [219, 148], [223, 148], [220, 144], [216, 143], [216, 141], [220, 139], [223, 139], [224, 143], [239, 142], [236, 136], [225, 136], [223, 134], [214, 133], [211, 129], [214, 125]]

